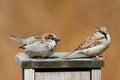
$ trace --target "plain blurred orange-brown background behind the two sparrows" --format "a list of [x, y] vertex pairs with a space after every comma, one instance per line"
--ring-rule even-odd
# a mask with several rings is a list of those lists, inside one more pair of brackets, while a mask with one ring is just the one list
[[20, 43], [7, 36], [52, 32], [62, 39], [57, 51], [68, 52], [100, 25], [107, 26], [112, 38], [103, 54], [102, 80], [119, 80], [120, 0], [0, 0], [0, 80], [22, 79], [15, 61]]

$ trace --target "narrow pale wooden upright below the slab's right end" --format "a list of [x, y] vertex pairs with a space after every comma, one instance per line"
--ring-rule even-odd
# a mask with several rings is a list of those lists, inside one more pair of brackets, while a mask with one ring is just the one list
[[101, 80], [101, 70], [92, 69], [91, 70], [91, 80]]

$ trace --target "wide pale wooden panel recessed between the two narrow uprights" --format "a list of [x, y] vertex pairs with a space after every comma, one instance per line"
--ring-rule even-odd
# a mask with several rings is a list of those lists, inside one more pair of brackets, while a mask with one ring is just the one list
[[90, 72], [36, 72], [35, 80], [90, 80]]

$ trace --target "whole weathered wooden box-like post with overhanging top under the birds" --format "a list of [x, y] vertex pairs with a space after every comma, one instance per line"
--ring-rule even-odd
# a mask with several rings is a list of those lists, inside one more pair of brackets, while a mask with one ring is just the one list
[[16, 61], [23, 70], [23, 80], [101, 80], [103, 58], [94, 60], [77, 55], [79, 57], [62, 59], [67, 54], [56, 52], [48, 59], [33, 59], [19, 53]]

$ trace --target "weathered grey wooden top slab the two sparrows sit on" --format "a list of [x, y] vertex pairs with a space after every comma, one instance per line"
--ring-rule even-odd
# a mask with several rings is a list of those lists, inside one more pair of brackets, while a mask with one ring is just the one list
[[16, 61], [22, 68], [100, 68], [104, 66], [103, 58], [94, 60], [79, 55], [79, 58], [62, 59], [61, 57], [66, 54], [68, 52], [56, 52], [54, 56], [60, 58], [33, 59], [25, 53], [19, 53], [16, 55]]

